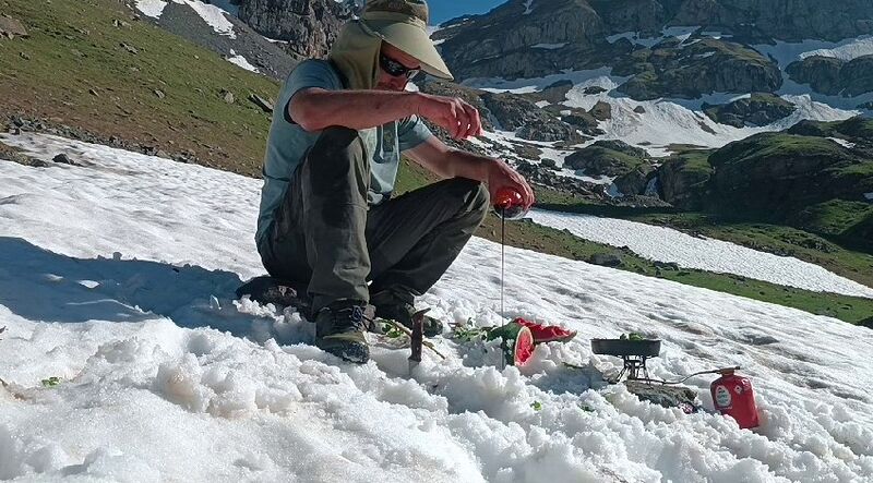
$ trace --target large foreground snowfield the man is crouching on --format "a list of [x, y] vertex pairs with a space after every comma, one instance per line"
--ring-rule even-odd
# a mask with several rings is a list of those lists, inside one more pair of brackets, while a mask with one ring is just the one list
[[[45, 135], [0, 161], [0, 478], [52, 481], [734, 482], [873, 479], [873, 331], [506, 250], [506, 316], [578, 330], [522, 371], [436, 338], [366, 365], [291, 310], [234, 301], [260, 274], [261, 182]], [[500, 247], [474, 239], [420, 301], [499, 324]], [[739, 364], [762, 426], [641, 402], [588, 340], [663, 341], [669, 379]], [[584, 369], [574, 369], [563, 363]], [[57, 376], [56, 387], [41, 379]], [[705, 408], [710, 376], [689, 385]], [[596, 390], [589, 390], [595, 388]], [[540, 408], [537, 410], [536, 408]]]

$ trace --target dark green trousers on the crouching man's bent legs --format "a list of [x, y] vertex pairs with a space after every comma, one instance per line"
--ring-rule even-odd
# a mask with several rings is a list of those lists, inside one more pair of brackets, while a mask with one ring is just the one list
[[358, 132], [328, 128], [277, 208], [264, 267], [308, 287], [313, 312], [338, 299], [369, 302], [370, 293], [412, 303], [442, 277], [489, 208], [485, 185], [465, 178], [368, 207], [369, 182]]

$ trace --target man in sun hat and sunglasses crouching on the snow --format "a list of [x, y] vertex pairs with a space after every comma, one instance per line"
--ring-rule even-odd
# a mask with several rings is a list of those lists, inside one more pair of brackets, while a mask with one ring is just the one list
[[[489, 192], [512, 186], [526, 208], [534, 203], [506, 164], [451, 149], [421, 121], [457, 140], [481, 134], [463, 100], [405, 92], [419, 70], [452, 79], [427, 21], [423, 0], [368, 1], [327, 60], [291, 72], [270, 130], [258, 250], [271, 276], [308, 286], [315, 345], [354, 362], [370, 354], [368, 302], [378, 317], [410, 326], [415, 295], [467, 243]], [[444, 180], [392, 198], [402, 152]], [[427, 335], [441, 331], [427, 321]]]

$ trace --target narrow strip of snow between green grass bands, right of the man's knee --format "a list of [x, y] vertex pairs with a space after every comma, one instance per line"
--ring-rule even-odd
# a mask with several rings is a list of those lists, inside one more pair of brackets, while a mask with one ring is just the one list
[[529, 216], [540, 225], [559, 230], [567, 229], [586, 240], [627, 246], [645, 258], [673, 262], [684, 268], [734, 274], [816, 292], [873, 299], [873, 288], [840, 277], [818, 265], [721, 240], [697, 238], [670, 228], [593, 215], [535, 209]]

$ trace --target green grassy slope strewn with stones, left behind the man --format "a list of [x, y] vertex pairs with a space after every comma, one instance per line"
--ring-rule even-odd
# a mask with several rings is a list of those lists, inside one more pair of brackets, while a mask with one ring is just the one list
[[0, 39], [3, 119], [44, 119], [260, 173], [270, 118], [248, 97], [274, 98], [275, 82], [133, 20], [117, 0], [0, 0], [0, 11], [29, 34]]

